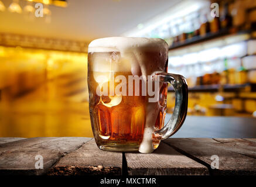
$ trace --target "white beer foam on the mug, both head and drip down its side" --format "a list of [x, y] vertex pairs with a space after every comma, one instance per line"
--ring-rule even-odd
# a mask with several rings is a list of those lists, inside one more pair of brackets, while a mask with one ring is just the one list
[[[156, 72], [165, 71], [165, 63], [168, 60], [168, 44], [162, 39], [107, 37], [93, 40], [88, 46], [88, 53], [111, 51], [120, 52], [121, 58], [128, 59], [131, 64], [130, 71], [132, 75], [147, 77], [148, 75], [154, 75]], [[145, 52], [152, 52], [152, 54]], [[159, 108], [156, 107], [157, 104], [157, 102], [148, 103], [146, 106], [144, 136], [139, 146], [139, 152], [141, 153], [152, 153], [153, 151], [152, 133], [157, 114], [160, 112]]]

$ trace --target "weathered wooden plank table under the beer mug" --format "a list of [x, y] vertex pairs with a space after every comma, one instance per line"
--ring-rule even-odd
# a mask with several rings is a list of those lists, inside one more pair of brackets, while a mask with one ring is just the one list
[[86, 137], [0, 138], [0, 175], [18, 174], [256, 175], [256, 138], [168, 138], [151, 154], [102, 151]]

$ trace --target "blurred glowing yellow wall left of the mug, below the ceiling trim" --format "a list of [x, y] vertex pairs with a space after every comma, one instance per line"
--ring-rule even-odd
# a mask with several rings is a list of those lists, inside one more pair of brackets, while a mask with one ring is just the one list
[[0, 46], [0, 137], [93, 137], [87, 54]]

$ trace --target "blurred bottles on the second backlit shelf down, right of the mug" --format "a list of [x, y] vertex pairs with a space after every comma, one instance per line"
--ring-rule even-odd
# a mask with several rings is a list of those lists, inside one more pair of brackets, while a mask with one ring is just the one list
[[[180, 67], [179, 67], [180, 68]], [[256, 70], [247, 70], [241, 63], [240, 58], [212, 63], [196, 64], [196, 66], [185, 66], [176, 69], [177, 74], [185, 75], [190, 87], [197, 85], [214, 84], [246, 84], [256, 83]]]

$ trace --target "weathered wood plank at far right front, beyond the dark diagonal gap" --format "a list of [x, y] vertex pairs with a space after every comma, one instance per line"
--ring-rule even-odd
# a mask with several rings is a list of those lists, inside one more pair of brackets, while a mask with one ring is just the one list
[[[179, 152], [210, 167], [212, 155], [219, 157], [219, 169], [211, 169], [216, 175], [256, 175], [256, 159], [230, 150], [222, 143], [210, 143], [189, 138], [168, 138], [165, 143]], [[229, 146], [230, 147], [230, 146]]]

